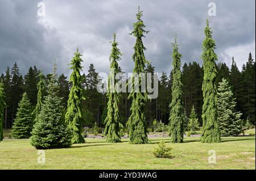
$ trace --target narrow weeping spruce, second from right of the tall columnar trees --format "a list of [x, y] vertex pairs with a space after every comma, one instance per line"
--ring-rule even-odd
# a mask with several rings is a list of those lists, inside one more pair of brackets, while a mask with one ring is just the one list
[[183, 142], [184, 134], [184, 107], [182, 102], [182, 83], [181, 83], [181, 70], [180, 70], [180, 58], [181, 54], [178, 50], [177, 36], [175, 35], [175, 42], [172, 44], [172, 102], [170, 103], [170, 135], [171, 142]]

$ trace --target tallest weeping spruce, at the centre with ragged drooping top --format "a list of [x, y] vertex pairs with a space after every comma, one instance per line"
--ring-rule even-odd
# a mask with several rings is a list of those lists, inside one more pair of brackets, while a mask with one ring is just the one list
[[[148, 31], [144, 30], [144, 23], [141, 19], [142, 11], [138, 7], [137, 13], [137, 22], [133, 24], [134, 30], [130, 33], [130, 35], [135, 36], [136, 43], [134, 45], [134, 54], [133, 61], [135, 63], [133, 73], [140, 74], [145, 72], [145, 65], [147, 64], [147, 60], [144, 56], [144, 47], [142, 43], [142, 37], [144, 37], [143, 33], [148, 33]], [[134, 77], [130, 79], [132, 82], [132, 86], [139, 87], [141, 90], [141, 79], [139, 81], [135, 81]], [[129, 129], [129, 138], [131, 144], [146, 144], [148, 142], [147, 138], [147, 129], [146, 129], [146, 117], [145, 113], [145, 103], [147, 100], [146, 92], [138, 91], [135, 92], [134, 89], [131, 90], [128, 99], [132, 100], [131, 103], [131, 115], [126, 123], [127, 128]]]

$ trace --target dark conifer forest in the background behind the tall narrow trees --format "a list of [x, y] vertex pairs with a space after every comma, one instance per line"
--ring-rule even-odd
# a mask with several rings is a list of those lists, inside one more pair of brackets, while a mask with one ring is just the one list
[[[248, 60], [245, 65], [242, 66], [240, 71], [237, 68], [236, 61], [233, 58], [231, 68], [223, 62], [217, 64], [217, 82], [221, 82], [222, 78], [226, 78], [229, 85], [232, 86], [232, 91], [237, 99], [236, 110], [242, 112], [243, 120], [250, 120], [250, 123], [255, 125], [255, 61], [249, 53]], [[154, 73], [154, 65], [148, 64], [146, 72]], [[4, 84], [4, 91], [6, 92], [6, 108], [5, 108], [5, 123], [3, 128], [11, 128], [13, 120], [16, 116], [18, 103], [22, 99], [23, 92], [27, 92], [32, 107], [36, 106], [36, 98], [38, 90], [36, 85], [39, 82], [40, 70], [36, 68], [36, 65], [30, 66], [26, 75], [19, 73], [19, 67], [15, 63], [13, 68], [6, 68], [5, 73], [1, 74], [1, 81]], [[99, 127], [104, 127], [102, 120], [106, 117], [106, 92], [100, 93], [97, 91], [97, 71], [94, 69], [94, 65], [90, 64], [88, 68], [88, 74], [82, 74], [82, 87], [84, 89], [83, 95], [86, 97], [86, 101], [82, 103], [82, 116], [83, 126], [93, 127], [93, 124], [97, 122]], [[47, 83], [51, 74], [43, 75], [43, 79]], [[195, 106], [197, 116], [199, 117], [199, 123], [202, 125], [201, 110], [203, 106], [203, 92], [201, 85], [203, 83], [204, 71], [203, 67], [199, 63], [193, 61], [188, 64], [185, 63], [182, 68], [182, 83], [183, 83], [183, 102], [187, 116], [191, 113], [192, 105]], [[57, 78], [59, 96], [63, 98], [62, 103], [64, 107], [67, 107], [69, 90], [71, 83], [69, 83], [67, 76], [61, 74]], [[146, 120], [147, 127], [151, 127], [154, 119], [168, 124], [169, 109], [168, 105], [171, 102], [171, 86], [172, 86], [172, 73], [162, 72], [159, 77], [158, 83], [158, 98], [148, 99], [146, 102]], [[121, 115], [122, 124], [126, 124], [130, 114], [130, 100], [127, 99], [128, 93], [121, 93], [121, 101], [118, 105]]]

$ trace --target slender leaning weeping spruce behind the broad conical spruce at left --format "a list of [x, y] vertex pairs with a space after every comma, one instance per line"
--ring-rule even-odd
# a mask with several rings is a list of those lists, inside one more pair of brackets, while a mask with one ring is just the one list
[[36, 101], [36, 107], [34, 111], [32, 112], [32, 116], [34, 116], [34, 123], [38, 120], [38, 115], [40, 111], [42, 110], [42, 104], [43, 104], [43, 96], [46, 91], [46, 84], [44, 82], [44, 75], [40, 71], [39, 72], [39, 82], [37, 84], [37, 89], [38, 89], [38, 95], [37, 95], [37, 101]]

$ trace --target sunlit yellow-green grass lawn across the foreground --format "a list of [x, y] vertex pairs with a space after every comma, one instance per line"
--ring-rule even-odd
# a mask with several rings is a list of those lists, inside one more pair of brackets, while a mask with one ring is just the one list
[[[101, 138], [85, 138], [85, 144], [46, 150], [46, 163], [39, 164], [38, 150], [30, 140], [0, 142], [0, 169], [255, 169], [255, 137], [223, 137], [218, 144], [203, 144], [198, 137], [185, 137], [183, 144], [169, 138], [151, 138], [151, 144], [131, 145], [127, 139], [109, 144]], [[155, 158], [152, 150], [164, 140], [175, 158]], [[216, 164], [208, 163], [215, 150]]]

